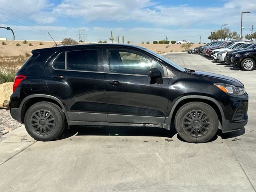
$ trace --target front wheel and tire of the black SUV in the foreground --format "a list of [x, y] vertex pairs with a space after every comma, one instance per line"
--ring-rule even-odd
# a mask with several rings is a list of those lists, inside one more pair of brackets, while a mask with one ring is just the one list
[[178, 110], [175, 116], [175, 128], [185, 141], [204, 143], [216, 135], [218, 116], [208, 104], [190, 102]]

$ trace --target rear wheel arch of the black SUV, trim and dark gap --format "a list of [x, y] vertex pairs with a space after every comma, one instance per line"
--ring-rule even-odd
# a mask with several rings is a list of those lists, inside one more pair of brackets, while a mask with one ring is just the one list
[[63, 105], [63, 103], [58, 98], [56, 98], [54, 96], [44, 95], [44, 94], [30, 95], [22, 100], [22, 102], [20, 104], [21, 121], [24, 122], [24, 117], [25, 117], [26, 111], [28, 110], [28, 108], [30, 108], [30, 106], [32, 106], [33, 104], [35, 104], [37, 102], [42, 102], [42, 101], [52, 102], [52, 103], [58, 105], [63, 110], [63, 112], [66, 116], [66, 120], [69, 122], [68, 114], [66, 112], [66, 108]]

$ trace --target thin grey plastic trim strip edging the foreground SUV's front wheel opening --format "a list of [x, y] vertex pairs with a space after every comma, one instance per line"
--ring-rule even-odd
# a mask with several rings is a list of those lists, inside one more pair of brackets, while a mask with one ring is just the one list
[[189, 95], [189, 96], [183, 96], [183, 97], [179, 98], [179, 99], [174, 103], [174, 105], [172, 106], [172, 110], [171, 110], [169, 116], [166, 117], [166, 119], [165, 119], [165, 122], [164, 122], [164, 124], [163, 124], [163, 128], [166, 128], [167, 130], [170, 130], [173, 112], [174, 112], [176, 106], [177, 106], [182, 100], [185, 100], [185, 99], [204, 99], [204, 100], [212, 101], [212, 102], [214, 102], [214, 103], [216, 104], [216, 106], [218, 106], [218, 108], [219, 108], [219, 110], [220, 110], [220, 114], [221, 114], [222, 119], [225, 119], [223, 109], [222, 109], [222, 107], [220, 106], [220, 104], [218, 103], [217, 100], [215, 100], [214, 98], [211, 98], [211, 97], [207, 97], [207, 96]]

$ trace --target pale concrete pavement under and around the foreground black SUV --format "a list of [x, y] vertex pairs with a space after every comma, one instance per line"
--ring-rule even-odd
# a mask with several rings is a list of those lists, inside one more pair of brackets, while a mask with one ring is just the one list
[[165, 55], [177, 64], [237, 78], [249, 99], [248, 125], [190, 144], [174, 130], [75, 126], [60, 140], [36, 142], [24, 126], [0, 138], [2, 192], [246, 191], [256, 188], [256, 70], [199, 55]]

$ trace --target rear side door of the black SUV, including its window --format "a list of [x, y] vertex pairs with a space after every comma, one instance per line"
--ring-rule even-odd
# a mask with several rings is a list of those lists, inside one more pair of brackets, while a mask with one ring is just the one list
[[106, 122], [101, 48], [57, 52], [45, 71], [50, 94], [64, 103], [70, 120]]

